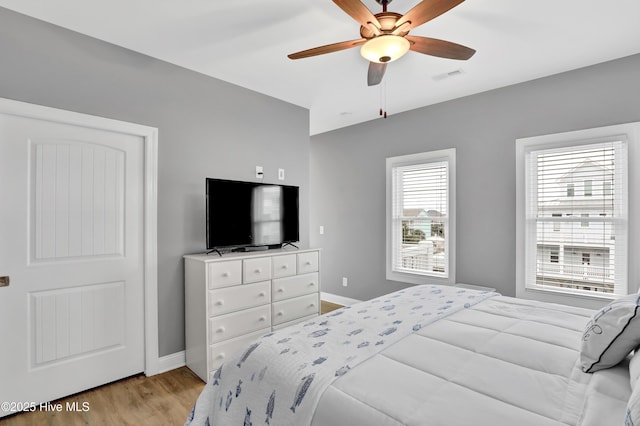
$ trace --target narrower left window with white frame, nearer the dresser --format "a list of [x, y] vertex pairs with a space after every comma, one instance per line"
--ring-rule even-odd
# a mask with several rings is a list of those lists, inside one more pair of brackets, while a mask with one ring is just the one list
[[387, 279], [455, 283], [455, 149], [387, 158]]

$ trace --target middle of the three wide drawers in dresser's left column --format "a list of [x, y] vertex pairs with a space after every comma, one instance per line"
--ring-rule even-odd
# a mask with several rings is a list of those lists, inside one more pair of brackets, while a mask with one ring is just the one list
[[218, 343], [271, 326], [271, 306], [209, 318], [209, 342]]

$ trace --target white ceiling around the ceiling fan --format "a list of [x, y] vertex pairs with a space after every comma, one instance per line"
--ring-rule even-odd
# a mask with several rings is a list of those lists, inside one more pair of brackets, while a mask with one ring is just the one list
[[[429, 0], [425, 0], [429, 1]], [[363, 0], [374, 13], [374, 0]], [[419, 0], [395, 0], [401, 14]], [[409, 52], [368, 87], [359, 49], [287, 54], [359, 38], [330, 0], [0, 0], [0, 6], [310, 110], [310, 133], [378, 119], [640, 52], [638, 0], [467, 0], [413, 31], [477, 51]], [[452, 71], [462, 73], [434, 77]], [[639, 70], [640, 71], [640, 70]]]

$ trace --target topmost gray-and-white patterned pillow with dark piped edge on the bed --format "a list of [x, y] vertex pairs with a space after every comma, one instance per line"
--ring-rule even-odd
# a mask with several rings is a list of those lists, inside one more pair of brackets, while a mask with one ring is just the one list
[[596, 312], [582, 337], [582, 371], [593, 373], [613, 367], [640, 344], [640, 298], [630, 294]]

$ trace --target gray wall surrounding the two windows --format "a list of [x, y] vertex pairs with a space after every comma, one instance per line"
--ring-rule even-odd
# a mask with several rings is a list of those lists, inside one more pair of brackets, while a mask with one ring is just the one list
[[635, 55], [313, 136], [323, 291], [367, 299], [405, 287], [384, 278], [385, 158], [456, 148], [456, 280], [515, 296], [515, 140], [640, 121], [638, 75]]

